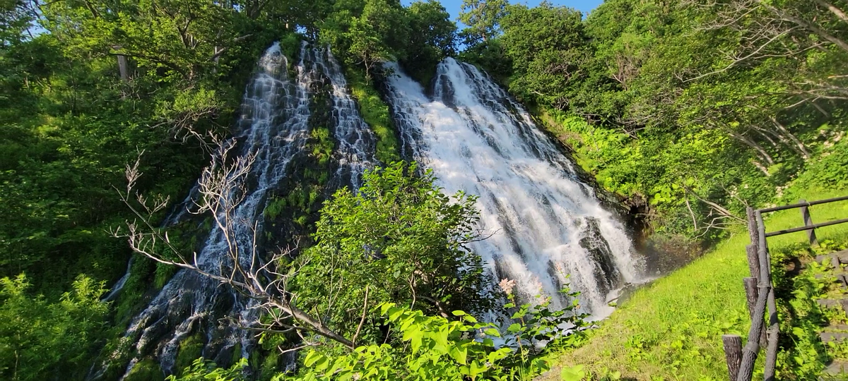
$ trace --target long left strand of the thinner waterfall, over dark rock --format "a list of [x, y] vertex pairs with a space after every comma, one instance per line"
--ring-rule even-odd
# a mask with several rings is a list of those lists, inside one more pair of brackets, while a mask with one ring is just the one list
[[[243, 156], [254, 156], [249, 177], [256, 185], [244, 195], [235, 211], [234, 218], [239, 221], [262, 223], [260, 215], [267, 192], [285, 176], [287, 163], [303, 150], [309, 138], [309, 84], [315, 80], [315, 71], [304, 67], [307, 51], [305, 46], [301, 49], [301, 61], [295, 67], [297, 77], [290, 80], [287, 78], [287, 58], [282, 55], [280, 46], [274, 44], [259, 60], [257, 74], [248, 85], [239, 123], [242, 131], [237, 140], [242, 141]], [[234, 226], [235, 239], [243, 243], [244, 250], [249, 250], [254, 225]], [[261, 226], [256, 229], [259, 233], [262, 231]], [[220, 271], [229, 266], [226, 252], [224, 232], [215, 226], [198, 254], [198, 265], [213, 273]], [[248, 260], [248, 256], [242, 257]], [[127, 329], [126, 337], [138, 338], [135, 341], [137, 356], [129, 363], [126, 373], [140, 356], [145, 355], [156, 356], [161, 367], [172, 372], [180, 341], [194, 329], [207, 335], [208, 347], [217, 346], [220, 351], [241, 343], [243, 351], [247, 351], [251, 343], [246, 332], [236, 329], [232, 323], [220, 327], [217, 319], [229, 316], [240, 320], [241, 324], [253, 323], [250, 315], [255, 312], [248, 309], [248, 303], [213, 279], [188, 270], [179, 271]], [[198, 323], [202, 327], [195, 327]], [[150, 348], [153, 345], [155, 347]]]

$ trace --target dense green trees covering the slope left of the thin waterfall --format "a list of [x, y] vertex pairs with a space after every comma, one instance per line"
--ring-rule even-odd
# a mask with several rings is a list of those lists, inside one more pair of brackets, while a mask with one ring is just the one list
[[[77, 274], [113, 284], [130, 257], [126, 242], [108, 233], [128, 218], [112, 185], [125, 182], [126, 163], [143, 151], [140, 170], [149, 177], [140, 191], [185, 196], [206, 162], [206, 135], [225, 133], [256, 57], [283, 28], [259, 21], [261, 9], [248, 16], [248, 3], [14, 1], [0, 8], [0, 277], [26, 273], [28, 293], [43, 295], [29, 304], [3, 297], [4, 311], [21, 309], [5, 321], [29, 324], [4, 334], [3, 378], [84, 378], [98, 349], [116, 345], [152, 286], [174, 272], [137, 261], [114, 315], [103, 316], [102, 303], [103, 311], [85, 307], [90, 318], [74, 315], [83, 313], [84, 298], [97, 301], [77, 296]], [[293, 35], [286, 36], [288, 47]], [[189, 226], [169, 231], [188, 252], [202, 234]], [[74, 317], [60, 315], [60, 306], [74, 305], [79, 311], [67, 313]], [[13, 342], [25, 335], [30, 346]], [[20, 356], [17, 376], [9, 351]], [[163, 377], [158, 366], [148, 376], [157, 374]]]

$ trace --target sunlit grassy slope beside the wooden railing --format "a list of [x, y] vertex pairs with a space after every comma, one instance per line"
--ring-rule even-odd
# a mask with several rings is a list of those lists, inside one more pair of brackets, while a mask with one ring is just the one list
[[[846, 190], [798, 191], [806, 200], [843, 196]], [[811, 207], [813, 222], [848, 216], [848, 202]], [[767, 217], [768, 231], [801, 224], [797, 209]], [[848, 224], [817, 229], [820, 241], [844, 237]], [[776, 249], [806, 240], [803, 232], [769, 239]], [[596, 377], [620, 372], [645, 380], [721, 380], [727, 368], [721, 335], [749, 328], [742, 278], [747, 232], [735, 231], [714, 250], [685, 268], [638, 290], [594, 331], [589, 343], [561, 355], [559, 363], [583, 364]], [[559, 367], [543, 380], [559, 379]]]

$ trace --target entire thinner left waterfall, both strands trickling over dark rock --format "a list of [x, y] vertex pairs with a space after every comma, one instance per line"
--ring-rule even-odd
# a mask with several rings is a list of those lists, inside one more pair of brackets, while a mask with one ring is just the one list
[[[253, 156], [254, 163], [243, 201], [233, 213], [232, 218], [237, 221], [234, 231], [227, 237], [226, 232], [214, 226], [198, 253], [199, 267], [210, 273], [232, 267], [227, 254], [228, 238], [238, 242], [243, 268], [251, 267], [254, 235], [261, 236], [265, 231], [262, 213], [269, 193], [291, 172], [289, 163], [305, 154], [304, 146], [310, 138], [310, 99], [316, 84], [332, 85], [332, 119], [336, 124], [332, 130], [339, 141], [334, 154], [339, 162], [334, 183], [359, 185], [361, 174], [374, 162], [373, 135], [360, 118], [329, 48], [313, 48], [304, 41], [298, 63], [293, 65], [293, 77], [287, 66], [287, 58], [275, 43], [259, 59], [256, 74], [245, 91], [242, 116], [229, 144], [237, 141], [240, 156]], [[192, 191], [168, 219], [181, 218], [184, 211], [180, 208], [191, 205], [195, 193]], [[241, 221], [244, 223], [238, 223]], [[205, 335], [203, 355], [207, 359], [229, 362], [238, 346], [241, 355], [247, 356], [254, 344], [253, 334], [240, 326], [256, 322], [259, 311], [254, 306], [254, 301], [214, 279], [180, 270], [131, 321], [122, 340], [133, 345], [128, 349], [132, 358], [124, 377], [148, 356], [158, 359], [166, 373], [173, 373], [181, 340], [195, 332]], [[92, 378], [100, 378], [104, 371], [101, 369]]]

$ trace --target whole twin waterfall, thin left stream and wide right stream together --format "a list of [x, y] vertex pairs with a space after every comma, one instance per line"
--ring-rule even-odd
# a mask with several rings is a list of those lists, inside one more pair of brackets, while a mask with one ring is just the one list
[[[398, 65], [387, 63], [385, 68], [385, 99], [404, 158], [432, 168], [446, 193], [466, 191], [479, 197], [479, 228], [492, 236], [471, 249], [483, 258], [492, 278], [515, 279], [524, 297], [540, 291], [554, 295], [553, 307], [571, 302], [556, 296], [569, 284], [582, 293], [584, 312], [608, 315], [609, 298], [639, 278], [639, 257], [624, 226], [577, 179], [572, 163], [524, 108], [487, 75], [453, 58], [438, 65], [432, 95]], [[338, 162], [332, 184], [358, 189], [361, 174], [380, 164], [374, 157], [375, 136], [360, 117], [329, 49], [303, 42], [298, 62], [290, 64], [275, 44], [259, 59], [234, 131], [240, 155], [255, 157], [249, 174], [254, 180], [235, 212], [237, 220], [251, 222], [238, 224], [235, 235], [241, 247], [250, 247], [253, 222], [258, 221], [255, 234], [265, 234], [262, 213], [268, 196], [304, 151], [310, 136], [310, 88], [316, 81], [332, 85], [333, 157]], [[244, 257], [249, 261], [248, 253]], [[198, 252], [200, 267], [226, 268], [227, 260], [225, 237], [213, 228]], [[228, 362], [233, 351], [247, 356], [254, 334], [239, 326], [258, 318], [251, 304], [215, 280], [179, 271], [132, 319], [124, 338], [131, 345], [129, 363], [121, 373], [126, 377], [150, 356], [166, 373], [175, 372], [181, 340], [196, 332], [205, 335], [203, 354], [209, 360]], [[92, 378], [102, 378], [102, 373]]]

